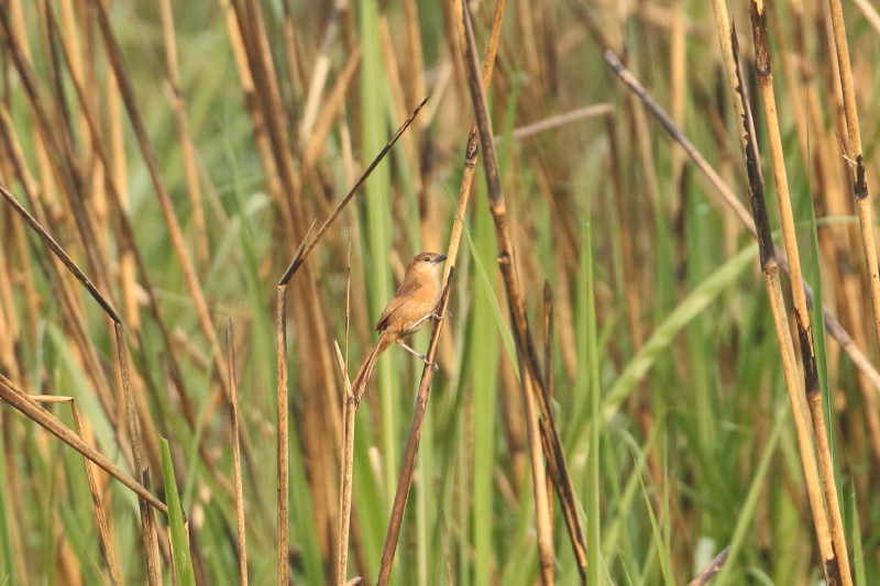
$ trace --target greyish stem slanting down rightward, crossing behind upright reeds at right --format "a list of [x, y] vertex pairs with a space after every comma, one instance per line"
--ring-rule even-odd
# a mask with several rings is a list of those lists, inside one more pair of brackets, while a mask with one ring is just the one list
[[[721, 175], [718, 175], [712, 165], [710, 165], [702, 153], [696, 150], [693, 143], [688, 140], [688, 137], [675, 125], [672, 119], [669, 118], [669, 115], [663, 111], [660, 104], [657, 103], [651, 95], [648, 93], [638, 79], [636, 79], [636, 77], [626, 67], [624, 67], [624, 65], [620, 63], [620, 59], [610, 48], [606, 48], [605, 51], [605, 60], [608, 63], [608, 66], [617, 75], [620, 81], [623, 81], [630, 91], [636, 93], [645, 103], [645, 106], [648, 107], [670, 137], [672, 137], [672, 140], [678, 142], [682, 148], [684, 148], [697, 168], [703, 172], [703, 174], [715, 187], [717, 195], [721, 196], [724, 203], [734, 210], [737, 219], [743, 223], [743, 225], [745, 225], [752, 235], [757, 235], [755, 222], [752, 221], [748, 211], [746, 211], [746, 208], [743, 207], [743, 203], [736, 198], [733, 190], [730, 190], [730, 187], [724, 181], [724, 179], [722, 179]], [[777, 261], [779, 262], [779, 266], [783, 270], [788, 270], [789, 263], [785, 254], [782, 251], [777, 251], [776, 256]], [[806, 292], [807, 302], [812, 305], [813, 289], [810, 287], [809, 283], [804, 283], [804, 291]], [[858, 368], [859, 372], [870, 380], [871, 385], [875, 387], [875, 390], [880, 392], [880, 373], [878, 373], [873, 364], [871, 364], [861, 349], [859, 349], [858, 345], [853, 341], [849, 332], [847, 332], [840, 322], [837, 321], [837, 318], [834, 317], [828, 308], [822, 308], [822, 316], [828, 334], [831, 334], [831, 336], [836, 340], [838, 344], [840, 344], [840, 347], [850, 357], [856, 368]]]

